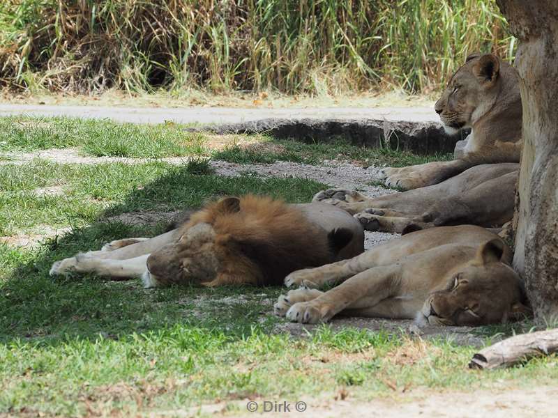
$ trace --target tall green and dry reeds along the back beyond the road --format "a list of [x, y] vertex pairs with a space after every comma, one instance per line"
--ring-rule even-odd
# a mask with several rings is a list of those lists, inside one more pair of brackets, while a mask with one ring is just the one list
[[32, 91], [428, 92], [470, 52], [514, 46], [492, 0], [0, 4], [0, 84]]

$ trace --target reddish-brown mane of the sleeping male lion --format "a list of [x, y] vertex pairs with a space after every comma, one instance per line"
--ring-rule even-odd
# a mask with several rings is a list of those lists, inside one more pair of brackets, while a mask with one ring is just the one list
[[245, 276], [245, 283], [282, 284], [294, 270], [334, 259], [328, 231], [309, 222], [295, 206], [269, 197], [248, 195], [211, 203], [184, 227], [199, 222], [213, 226], [227, 273]]

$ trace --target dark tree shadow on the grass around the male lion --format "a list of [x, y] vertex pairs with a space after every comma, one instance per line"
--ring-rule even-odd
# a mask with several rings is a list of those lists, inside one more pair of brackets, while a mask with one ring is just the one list
[[137, 280], [109, 281], [91, 275], [52, 278], [48, 272], [54, 261], [78, 251], [99, 249], [105, 242], [126, 236], [157, 235], [166, 227], [103, 222], [109, 215], [199, 208], [214, 196], [246, 193], [296, 203], [310, 201], [323, 187], [297, 178], [197, 176], [188, 166], [176, 167], [142, 189], [135, 189], [124, 201], [105, 210], [97, 222], [48, 240], [36, 251], [0, 246], [0, 268], [12, 269], [0, 283], [0, 341], [56, 345], [76, 337], [121, 339], [172, 329], [177, 324], [184, 329], [201, 327], [232, 339], [242, 338], [254, 328], [269, 330], [277, 321], [271, 315], [269, 301], [280, 288], [144, 290]]

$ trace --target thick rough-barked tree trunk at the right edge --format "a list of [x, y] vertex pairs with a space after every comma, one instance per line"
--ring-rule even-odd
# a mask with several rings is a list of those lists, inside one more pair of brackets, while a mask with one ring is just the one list
[[519, 39], [523, 151], [514, 267], [538, 320], [558, 318], [558, 1], [497, 0]]

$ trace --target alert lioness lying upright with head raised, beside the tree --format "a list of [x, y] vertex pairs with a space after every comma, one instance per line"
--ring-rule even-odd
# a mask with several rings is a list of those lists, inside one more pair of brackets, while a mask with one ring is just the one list
[[390, 187], [416, 189], [434, 185], [477, 164], [519, 162], [522, 107], [518, 73], [492, 54], [467, 56], [435, 104], [447, 132], [471, 133], [455, 160], [382, 170]]

